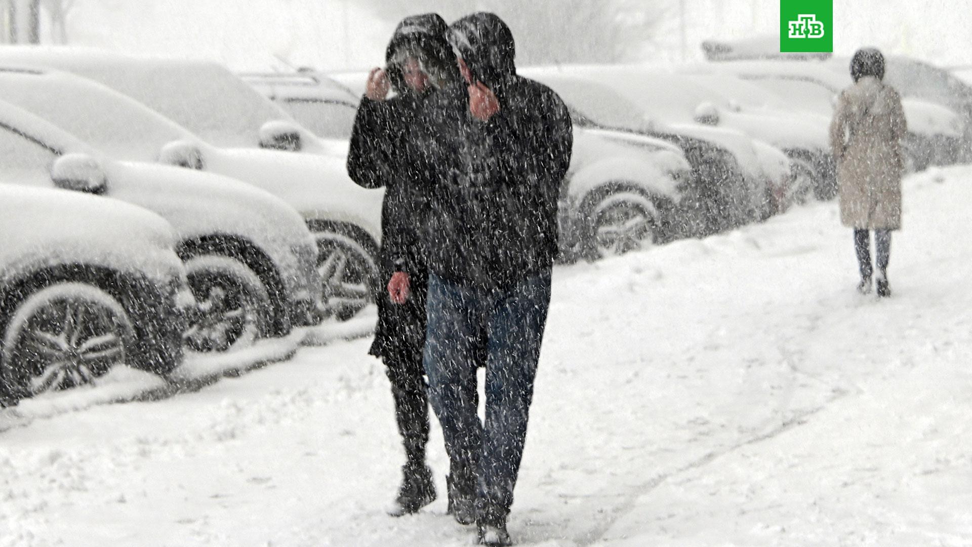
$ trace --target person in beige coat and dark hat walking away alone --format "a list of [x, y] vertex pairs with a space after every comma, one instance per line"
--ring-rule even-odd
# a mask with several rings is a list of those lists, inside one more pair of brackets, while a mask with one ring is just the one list
[[881, 52], [857, 51], [851, 76], [854, 84], [841, 92], [830, 124], [841, 222], [853, 229], [861, 276], [857, 290], [863, 294], [871, 292], [870, 231], [874, 231], [878, 296], [887, 297], [891, 294], [887, 283], [891, 231], [901, 228], [901, 139], [907, 124], [901, 96], [882, 81], [885, 57]]

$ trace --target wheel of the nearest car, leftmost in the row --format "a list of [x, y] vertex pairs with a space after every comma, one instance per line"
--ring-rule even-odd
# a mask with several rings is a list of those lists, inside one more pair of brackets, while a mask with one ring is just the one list
[[136, 354], [134, 328], [119, 301], [79, 282], [27, 297], [3, 340], [0, 394], [8, 402], [91, 383]]

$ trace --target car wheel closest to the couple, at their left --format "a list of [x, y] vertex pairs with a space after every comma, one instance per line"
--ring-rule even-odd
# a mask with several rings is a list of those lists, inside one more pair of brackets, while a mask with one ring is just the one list
[[346, 321], [373, 300], [377, 261], [353, 237], [334, 232], [319, 232], [314, 237], [325, 304], [335, 318]]

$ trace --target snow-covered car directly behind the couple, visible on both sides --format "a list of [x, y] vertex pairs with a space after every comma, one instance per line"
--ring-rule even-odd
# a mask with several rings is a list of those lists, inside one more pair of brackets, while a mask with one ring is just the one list
[[[359, 98], [342, 84], [311, 72], [243, 78], [291, 109], [301, 125], [350, 136]], [[698, 224], [679, 206], [691, 166], [676, 146], [596, 128], [572, 114], [573, 155], [559, 207], [561, 260], [623, 254]]]

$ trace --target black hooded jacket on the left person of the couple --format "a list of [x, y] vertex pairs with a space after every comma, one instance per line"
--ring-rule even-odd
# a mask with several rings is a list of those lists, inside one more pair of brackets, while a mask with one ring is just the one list
[[385, 52], [385, 69], [397, 95], [378, 101], [362, 97], [351, 132], [348, 174], [364, 188], [385, 187], [381, 211], [383, 276], [395, 270], [410, 274], [425, 271], [410, 194], [416, 185], [428, 183], [411, 167], [417, 162], [410, 156], [415, 151], [405, 143], [414, 130], [418, 112], [435, 90], [433, 87], [417, 93], [409, 89], [396, 57], [399, 52], [410, 50], [439, 83], [459, 81], [456, 57], [445, 38], [447, 30], [445, 20], [436, 14], [412, 16], [399, 22]]

